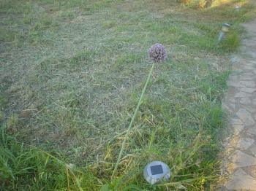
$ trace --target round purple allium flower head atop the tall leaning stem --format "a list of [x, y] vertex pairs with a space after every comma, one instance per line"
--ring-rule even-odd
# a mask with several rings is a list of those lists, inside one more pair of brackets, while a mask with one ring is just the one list
[[154, 62], [161, 62], [165, 61], [167, 58], [165, 47], [162, 44], [154, 44], [148, 50], [148, 55]]

